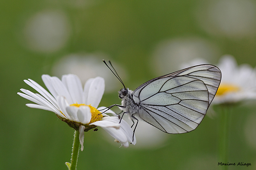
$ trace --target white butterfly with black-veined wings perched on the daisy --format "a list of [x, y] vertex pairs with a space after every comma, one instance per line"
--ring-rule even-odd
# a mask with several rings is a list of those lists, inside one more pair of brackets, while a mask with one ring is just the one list
[[[123, 115], [129, 114], [133, 125], [137, 120], [136, 126], [142, 119], [166, 133], [187, 133], [203, 120], [221, 77], [221, 70], [213, 65], [185, 68], [147, 81], [134, 91], [124, 86], [119, 91], [122, 105], [108, 108], [118, 106], [124, 111]], [[119, 76], [117, 78], [124, 85]]]

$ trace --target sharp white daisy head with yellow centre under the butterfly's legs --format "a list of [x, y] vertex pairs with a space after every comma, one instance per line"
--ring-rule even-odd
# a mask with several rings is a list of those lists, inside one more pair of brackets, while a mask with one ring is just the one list
[[[136, 144], [135, 137], [132, 141], [133, 131], [126, 121], [122, 120], [119, 123], [118, 117], [101, 114], [99, 110], [106, 107], [96, 109], [105, 88], [103, 78], [87, 80], [84, 88], [80, 79], [74, 74], [63, 75], [61, 80], [57, 77], [42, 75], [42, 80], [51, 94], [35, 81], [28, 79], [24, 80], [25, 83], [37, 90], [39, 94], [20, 89], [23, 93], [18, 92], [18, 95], [36, 103], [26, 104], [28, 107], [54, 112], [70, 127], [76, 131], [79, 130], [81, 150], [83, 150], [84, 132], [97, 126], [107, 131], [124, 147], [128, 147], [129, 142]], [[114, 112], [108, 110], [105, 113]]]

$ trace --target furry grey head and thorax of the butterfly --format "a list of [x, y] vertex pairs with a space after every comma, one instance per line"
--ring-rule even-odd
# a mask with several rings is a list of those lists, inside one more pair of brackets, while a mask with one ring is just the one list
[[[119, 94], [122, 94], [122, 91], [124, 91], [125, 89], [121, 89], [119, 91]], [[139, 105], [136, 104], [132, 98], [132, 90], [130, 90], [129, 88], [126, 89], [127, 90], [127, 95], [126, 96], [122, 96], [122, 105], [125, 107], [119, 107], [121, 110], [123, 110], [124, 112], [129, 113], [130, 116], [136, 114], [139, 112]]]

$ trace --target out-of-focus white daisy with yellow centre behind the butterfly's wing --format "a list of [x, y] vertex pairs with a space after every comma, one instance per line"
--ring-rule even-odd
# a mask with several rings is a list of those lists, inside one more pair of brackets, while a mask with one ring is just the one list
[[[189, 63], [183, 63], [181, 68], [199, 64], [209, 64], [209, 62], [197, 58]], [[222, 56], [216, 66], [221, 69], [222, 80], [212, 103], [234, 103], [256, 99], [256, 68], [252, 68], [248, 64], [238, 66], [231, 55]]]

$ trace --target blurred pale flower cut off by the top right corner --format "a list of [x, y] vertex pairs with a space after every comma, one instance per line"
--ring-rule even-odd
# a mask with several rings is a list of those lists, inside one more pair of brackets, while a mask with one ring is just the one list
[[212, 35], [248, 38], [256, 34], [256, 3], [252, 0], [201, 1], [195, 15], [199, 25]]

